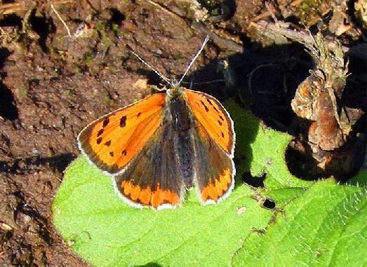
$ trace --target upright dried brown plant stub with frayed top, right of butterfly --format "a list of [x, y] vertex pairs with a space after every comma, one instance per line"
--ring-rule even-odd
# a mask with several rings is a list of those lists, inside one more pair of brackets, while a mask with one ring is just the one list
[[318, 170], [314, 174], [340, 177], [354, 169], [355, 142], [351, 131], [363, 112], [340, 104], [348, 71], [340, 44], [328, 46], [330, 42], [320, 33], [302, 43], [316, 67], [298, 86], [291, 102], [301, 128], [300, 144], [293, 147], [311, 153]]

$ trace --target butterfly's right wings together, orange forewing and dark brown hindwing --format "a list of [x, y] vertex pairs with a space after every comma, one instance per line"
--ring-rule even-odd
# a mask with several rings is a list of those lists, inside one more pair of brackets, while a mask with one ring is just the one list
[[218, 203], [231, 193], [236, 172], [233, 162], [233, 122], [222, 104], [201, 92], [185, 90], [194, 120], [195, 183], [203, 205]]

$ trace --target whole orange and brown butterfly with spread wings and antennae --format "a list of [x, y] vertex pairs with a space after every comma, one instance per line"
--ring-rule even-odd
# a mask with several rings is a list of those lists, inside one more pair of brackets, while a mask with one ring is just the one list
[[215, 204], [234, 187], [232, 118], [211, 95], [180, 86], [182, 78], [166, 93], [98, 118], [77, 137], [84, 156], [112, 175], [132, 207], [178, 207], [192, 187], [202, 205]]

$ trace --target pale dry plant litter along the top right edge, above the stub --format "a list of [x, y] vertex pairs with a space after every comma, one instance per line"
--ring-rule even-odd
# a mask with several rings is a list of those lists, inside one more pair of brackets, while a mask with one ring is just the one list
[[[362, 20], [366, 17], [365, 3], [366, 0], [359, 0], [354, 5], [356, 16], [361, 17]], [[266, 2], [265, 6], [267, 11], [253, 18], [250, 26], [254, 27], [260, 36], [267, 36], [277, 44], [286, 43], [287, 38], [295, 41], [298, 36], [295, 38], [292, 36], [300, 34], [302, 31], [292, 33], [293, 29], [291, 28], [300, 29], [299, 25], [305, 25], [307, 28], [316, 27], [320, 31], [330, 32], [334, 36], [343, 34], [343, 36], [350, 36], [355, 40], [362, 35], [361, 29], [354, 24], [349, 16], [349, 13], [353, 11], [347, 6], [346, 1], [295, 0], [291, 4], [288, 2], [286, 4]], [[272, 16], [274, 24], [262, 20], [268, 16]], [[299, 23], [284, 22], [285, 20], [294, 21], [292, 18], [299, 18]], [[366, 20], [363, 21], [366, 22]]]

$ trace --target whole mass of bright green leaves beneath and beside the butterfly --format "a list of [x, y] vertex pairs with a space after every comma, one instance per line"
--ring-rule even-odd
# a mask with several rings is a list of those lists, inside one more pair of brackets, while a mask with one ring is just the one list
[[[67, 244], [94, 266], [366, 265], [366, 189], [293, 177], [284, 158], [291, 137], [233, 102], [226, 107], [236, 127], [237, 170], [227, 200], [203, 207], [192, 190], [178, 209], [138, 210], [81, 156], [67, 168], [53, 203]], [[248, 170], [266, 174], [265, 188], [241, 183]], [[365, 181], [366, 172], [353, 180]], [[255, 195], [274, 200], [275, 212]]]

